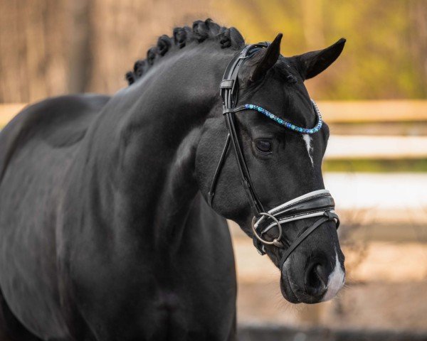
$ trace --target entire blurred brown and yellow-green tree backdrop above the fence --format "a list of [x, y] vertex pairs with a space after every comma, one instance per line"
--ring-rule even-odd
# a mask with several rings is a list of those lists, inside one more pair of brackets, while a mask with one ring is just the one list
[[283, 55], [347, 47], [307, 82], [316, 99], [427, 97], [426, 0], [0, 0], [0, 102], [112, 93], [161, 34], [211, 16]]

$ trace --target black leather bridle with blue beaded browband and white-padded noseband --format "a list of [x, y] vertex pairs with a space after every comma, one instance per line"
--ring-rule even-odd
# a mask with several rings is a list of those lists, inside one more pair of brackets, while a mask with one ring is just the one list
[[[285, 245], [281, 241], [283, 237], [282, 224], [310, 217], [320, 217], [310, 227], [305, 229], [305, 231], [302, 232], [297, 237], [297, 239], [292, 242], [292, 244], [290, 244], [288, 249], [285, 250], [279, 261], [279, 269], [282, 269], [283, 264], [285, 263], [286, 259], [288, 259], [292, 251], [294, 251], [296, 247], [305, 238], [308, 237], [308, 235], [310, 235], [313, 231], [315, 231], [315, 229], [317, 229], [317, 227], [320, 227], [321, 224], [327, 221], [334, 221], [336, 223], [336, 227], [338, 228], [339, 217], [334, 212], [334, 199], [328, 190], [315, 190], [305, 195], [301, 195], [300, 197], [296, 197], [295, 199], [285, 202], [278, 207], [274, 207], [268, 212], [265, 212], [263, 204], [260, 202], [260, 199], [255, 192], [251, 175], [248, 171], [248, 166], [246, 165], [245, 158], [243, 157], [241, 144], [238, 141], [235, 124], [236, 112], [241, 112], [243, 110], [255, 110], [261, 114], [264, 114], [266, 117], [273, 119], [276, 123], [284, 126], [285, 128], [295, 131], [299, 134], [315, 134], [322, 127], [322, 116], [320, 115], [319, 109], [313, 100], [312, 104], [317, 114], [317, 124], [312, 129], [295, 126], [294, 124], [280, 119], [274, 114], [268, 112], [268, 110], [265, 110], [255, 104], [243, 104], [239, 107], [236, 107], [238, 102], [238, 72], [241, 65], [245, 60], [251, 58], [251, 56], [260, 49], [268, 48], [268, 45], [268, 43], [258, 43], [246, 46], [243, 48], [241, 53], [238, 53], [238, 55], [236, 55], [230, 61], [230, 63], [228, 63], [226, 71], [224, 72], [220, 85], [220, 93], [223, 100], [223, 116], [226, 119], [228, 135], [226, 144], [224, 145], [221, 157], [218, 162], [218, 166], [216, 166], [216, 171], [214, 173], [214, 178], [212, 179], [211, 187], [209, 188], [208, 203], [210, 206], [212, 206], [216, 183], [218, 182], [218, 177], [221, 173], [221, 169], [226, 158], [226, 153], [231, 144], [234, 150], [234, 155], [236, 156], [238, 171], [241, 175], [243, 188], [245, 189], [246, 195], [248, 196], [251, 209], [255, 213], [252, 220], [253, 244], [255, 245], [256, 249], [258, 249], [260, 254], [265, 254], [265, 245], [273, 245], [280, 249], [285, 249]], [[263, 229], [261, 229], [261, 227], [263, 227]], [[263, 238], [263, 234], [268, 232], [268, 230], [272, 229], [273, 227], [278, 228], [278, 237], [270, 242]]]

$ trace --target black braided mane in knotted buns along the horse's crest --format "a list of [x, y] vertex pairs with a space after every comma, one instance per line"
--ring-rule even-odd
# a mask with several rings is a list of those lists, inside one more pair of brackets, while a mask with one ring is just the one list
[[129, 71], [125, 75], [129, 85], [132, 85], [142, 77], [157, 60], [170, 50], [179, 50], [193, 41], [202, 43], [205, 40], [216, 40], [221, 45], [221, 48], [236, 49], [245, 44], [243, 36], [236, 28], [219, 26], [211, 18], [205, 21], [194, 21], [192, 28], [189, 26], [176, 27], [172, 35], [172, 37], [167, 35], [160, 36], [157, 40], [157, 45], [147, 50], [147, 58], [135, 62], [133, 71]]

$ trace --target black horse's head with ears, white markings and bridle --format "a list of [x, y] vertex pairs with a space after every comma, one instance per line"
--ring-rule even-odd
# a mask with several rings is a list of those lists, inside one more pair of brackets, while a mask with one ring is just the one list
[[216, 107], [204, 124], [196, 177], [211, 207], [280, 268], [283, 296], [317, 303], [342, 288], [345, 269], [322, 178], [330, 131], [304, 81], [329, 67], [345, 40], [287, 58], [281, 38], [246, 46], [228, 63], [223, 110]]

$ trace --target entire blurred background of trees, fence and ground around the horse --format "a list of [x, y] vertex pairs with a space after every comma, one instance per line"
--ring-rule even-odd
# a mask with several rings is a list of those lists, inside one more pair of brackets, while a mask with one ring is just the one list
[[248, 43], [283, 32], [283, 55], [347, 38], [306, 82], [331, 127], [347, 286], [285, 303], [278, 270], [231, 224], [241, 340], [427, 340], [426, 0], [0, 0], [0, 129], [44, 97], [116, 92], [158, 36], [208, 17]]

